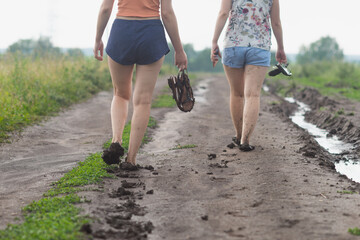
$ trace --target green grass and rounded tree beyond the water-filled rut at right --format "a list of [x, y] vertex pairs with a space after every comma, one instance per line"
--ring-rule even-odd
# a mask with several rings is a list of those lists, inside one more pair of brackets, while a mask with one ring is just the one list
[[[323, 37], [310, 46], [303, 46], [289, 68], [293, 77], [286, 78], [285, 94], [294, 87], [309, 86], [327, 96], [343, 96], [360, 101], [360, 64], [344, 61], [343, 51], [335, 39]], [[284, 82], [284, 76], [270, 81]]]

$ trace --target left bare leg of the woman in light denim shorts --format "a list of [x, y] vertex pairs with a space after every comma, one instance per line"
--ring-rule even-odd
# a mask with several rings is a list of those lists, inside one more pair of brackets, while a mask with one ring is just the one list
[[230, 113], [234, 124], [236, 138], [241, 140], [244, 109], [244, 69], [224, 65], [225, 74], [230, 85]]

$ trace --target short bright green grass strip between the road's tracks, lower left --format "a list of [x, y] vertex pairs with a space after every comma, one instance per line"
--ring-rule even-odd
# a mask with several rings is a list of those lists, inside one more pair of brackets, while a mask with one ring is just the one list
[[[155, 127], [156, 121], [152, 117], [148, 127]], [[128, 149], [130, 137], [130, 123], [126, 124], [123, 134], [123, 146]], [[147, 134], [143, 143], [149, 141]], [[104, 144], [110, 144], [111, 140]], [[38, 239], [81, 239], [81, 227], [91, 219], [81, 216], [81, 209], [76, 204], [86, 201], [75, 193], [89, 189], [86, 186], [100, 184], [104, 178], [112, 178], [102, 159], [101, 153], [94, 153], [80, 162], [77, 167], [66, 173], [53, 187], [44, 194], [44, 198], [34, 201], [23, 209], [24, 222], [10, 224], [5, 230], [0, 230], [0, 239], [4, 240], [38, 240]]]

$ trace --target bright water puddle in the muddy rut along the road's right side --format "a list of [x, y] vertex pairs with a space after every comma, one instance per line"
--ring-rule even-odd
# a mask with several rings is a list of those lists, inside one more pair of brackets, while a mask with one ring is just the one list
[[[266, 91], [265, 88], [264, 91]], [[310, 111], [308, 105], [296, 101], [294, 98], [285, 98], [285, 100], [298, 105], [298, 111], [290, 116], [290, 119], [299, 127], [307, 130], [319, 145], [329, 153], [339, 156], [339, 160], [334, 163], [336, 171], [346, 175], [349, 179], [360, 183], [360, 164], [347, 154], [347, 152], [350, 152], [353, 149], [353, 145], [339, 140], [337, 136], [328, 137], [328, 131], [306, 122], [304, 115], [306, 112]]]

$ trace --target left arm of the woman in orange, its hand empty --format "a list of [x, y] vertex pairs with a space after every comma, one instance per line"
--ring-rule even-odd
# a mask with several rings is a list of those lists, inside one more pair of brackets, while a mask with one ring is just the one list
[[105, 27], [109, 21], [111, 11], [114, 5], [114, 0], [103, 0], [101, 4], [97, 27], [96, 27], [96, 37], [95, 37], [95, 46], [94, 46], [94, 57], [102, 61], [104, 56], [104, 43], [102, 41], [102, 36], [104, 34]]

